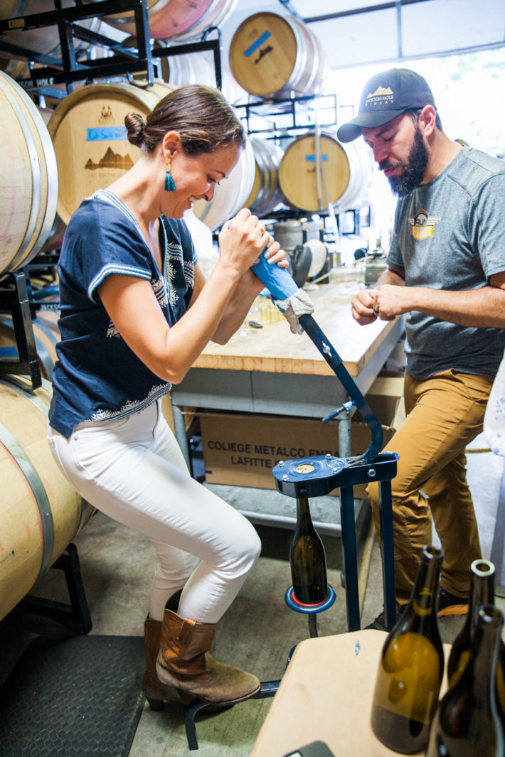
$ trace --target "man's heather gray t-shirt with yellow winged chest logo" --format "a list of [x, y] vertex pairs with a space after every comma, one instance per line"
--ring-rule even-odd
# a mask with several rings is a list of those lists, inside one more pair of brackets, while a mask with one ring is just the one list
[[[429, 184], [398, 201], [388, 265], [407, 286], [482, 288], [505, 270], [505, 161], [463, 148]], [[407, 369], [422, 381], [455, 369], [494, 376], [505, 329], [457, 326], [418, 311], [405, 316]]]

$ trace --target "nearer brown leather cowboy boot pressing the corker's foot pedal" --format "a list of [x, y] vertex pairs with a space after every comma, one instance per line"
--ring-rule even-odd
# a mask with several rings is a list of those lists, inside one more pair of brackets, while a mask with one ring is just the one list
[[[214, 704], [242, 702], [260, 690], [255, 675], [223, 665], [209, 653], [214, 623], [179, 618], [165, 609], [161, 628], [161, 651], [157, 657], [157, 680], [179, 694], [180, 701], [195, 696]], [[175, 690], [175, 691], [174, 691]]]

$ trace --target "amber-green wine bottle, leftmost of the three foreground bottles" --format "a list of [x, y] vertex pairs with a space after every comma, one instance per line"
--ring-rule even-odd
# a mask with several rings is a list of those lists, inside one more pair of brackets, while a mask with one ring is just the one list
[[444, 674], [436, 598], [444, 553], [423, 547], [404, 614], [382, 647], [373, 693], [373, 733], [389, 749], [426, 749]]

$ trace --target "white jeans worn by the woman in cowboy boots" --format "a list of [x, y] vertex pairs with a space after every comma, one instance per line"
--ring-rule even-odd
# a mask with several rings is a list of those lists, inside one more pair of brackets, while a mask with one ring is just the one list
[[161, 403], [131, 416], [85, 421], [68, 439], [49, 427], [61, 471], [105, 515], [151, 540], [158, 565], [149, 616], [184, 587], [179, 615], [215, 623], [235, 599], [260, 553], [253, 526], [189, 475]]

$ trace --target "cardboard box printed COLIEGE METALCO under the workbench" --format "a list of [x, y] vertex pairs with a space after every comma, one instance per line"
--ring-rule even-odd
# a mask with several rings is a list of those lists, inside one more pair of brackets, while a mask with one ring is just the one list
[[[394, 435], [395, 419], [401, 416], [398, 378], [380, 378], [368, 394], [373, 412], [384, 431], [384, 444]], [[358, 414], [351, 423], [353, 454], [366, 451], [370, 430]], [[209, 484], [229, 484], [275, 489], [272, 471], [279, 460], [330, 453], [338, 456], [338, 421], [327, 424], [313, 418], [257, 415], [254, 413], [201, 413], [201, 441], [205, 476]], [[338, 495], [338, 491], [335, 491]], [[357, 498], [365, 497], [365, 485], [354, 487]]]

